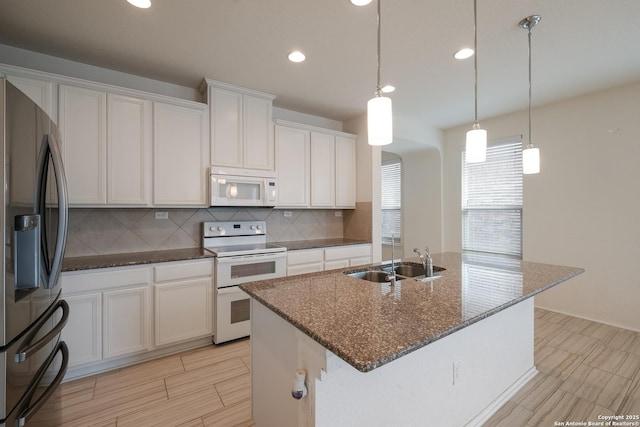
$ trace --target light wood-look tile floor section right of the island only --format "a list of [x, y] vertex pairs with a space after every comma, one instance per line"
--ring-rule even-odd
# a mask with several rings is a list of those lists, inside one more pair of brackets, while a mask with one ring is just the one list
[[538, 375], [484, 427], [588, 425], [603, 421], [599, 415], [640, 415], [640, 333], [535, 313]]

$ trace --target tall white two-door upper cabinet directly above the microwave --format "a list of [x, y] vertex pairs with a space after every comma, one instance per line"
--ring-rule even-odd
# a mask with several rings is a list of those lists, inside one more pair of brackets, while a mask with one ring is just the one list
[[211, 165], [274, 170], [273, 95], [205, 79], [211, 123]]

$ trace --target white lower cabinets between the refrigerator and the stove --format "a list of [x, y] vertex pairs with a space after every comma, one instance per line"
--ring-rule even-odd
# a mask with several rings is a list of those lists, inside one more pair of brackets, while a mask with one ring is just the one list
[[211, 342], [211, 259], [65, 272], [61, 282], [66, 379]]

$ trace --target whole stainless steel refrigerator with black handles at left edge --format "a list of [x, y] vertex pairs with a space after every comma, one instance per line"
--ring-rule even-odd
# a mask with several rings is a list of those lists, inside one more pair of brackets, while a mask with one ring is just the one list
[[0, 79], [0, 426], [56, 426], [69, 352], [58, 278], [67, 188], [55, 123]]

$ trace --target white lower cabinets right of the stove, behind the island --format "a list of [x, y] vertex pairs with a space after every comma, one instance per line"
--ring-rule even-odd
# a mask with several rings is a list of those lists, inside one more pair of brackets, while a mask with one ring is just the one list
[[287, 276], [371, 264], [371, 244], [287, 252]]

